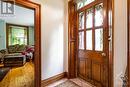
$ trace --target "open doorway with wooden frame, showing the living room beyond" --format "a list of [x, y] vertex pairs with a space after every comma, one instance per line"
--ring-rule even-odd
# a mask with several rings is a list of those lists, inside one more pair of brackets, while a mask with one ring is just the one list
[[[4, 26], [1, 29], [4, 30], [2, 32], [2, 38], [4, 37], [5, 40], [3, 39], [2, 40], [3, 42], [5, 41], [6, 45], [4, 44], [4, 47], [5, 49], [8, 50], [7, 53], [5, 51], [6, 54], [4, 54], [3, 51], [1, 51], [0, 53], [2, 55], [2, 62], [0, 58], [0, 65], [2, 63], [2, 66], [0, 66], [0, 74], [2, 73], [3, 75], [0, 84], [2, 84], [1, 85], [2, 87], [10, 85], [14, 87], [22, 87], [22, 86], [40, 87], [41, 86], [40, 4], [28, 0], [14, 0], [14, 1], [2, 0], [0, 1], [0, 3], [4, 4], [3, 7], [4, 10], [6, 7], [8, 7], [8, 5], [11, 6], [10, 8], [8, 7], [9, 9], [6, 8], [6, 11], [8, 10], [7, 13], [9, 12], [8, 14], [6, 13], [4, 14], [4, 16], [0, 16], [0, 21]], [[7, 18], [6, 15], [7, 17], [11, 15], [11, 17]], [[5, 72], [3, 73], [3, 70], [1, 69], [3, 69]], [[16, 78], [14, 79], [14, 77]], [[28, 79], [29, 81], [26, 79]]]

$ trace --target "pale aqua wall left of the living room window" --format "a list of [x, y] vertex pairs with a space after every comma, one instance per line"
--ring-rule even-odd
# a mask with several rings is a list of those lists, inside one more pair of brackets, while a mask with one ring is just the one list
[[6, 49], [6, 23], [0, 20], [0, 50]]

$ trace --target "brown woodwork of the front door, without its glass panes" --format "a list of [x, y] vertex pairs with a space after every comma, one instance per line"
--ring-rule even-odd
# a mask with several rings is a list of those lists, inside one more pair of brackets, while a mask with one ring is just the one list
[[[92, 84], [96, 85], [97, 87], [108, 87], [108, 62], [109, 62], [109, 41], [108, 41], [108, 32], [109, 29], [107, 23], [107, 0], [96, 0], [92, 4], [85, 6], [84, 8], [78, 10], [78, 14], [80, 12], [85, 12], [86, 10], [97, 5], [103, 3], [103, 12], [104, 19], [103, 25], [100, 26], [103, 28], [103, 51], [95, 51], [95, 30], [96, 27], [92, 28], [92, 50], [86, 50], [86, 27], [84, 30], [80, 30], [79, 32], [84, 32], [84, 50], [78, 50], [78, 76], [91, 82]], [[84, 26], [86, 26], [86, 18], [84, 21]], [[95, 20], [93, 17], [93, 24]], [[79, 23], [77, 23], [79, 24]], [[99, 28], [100, 28], [99, 27]], [[78, 35], [78, 34], [77, 34]], [[79, 37], [78, 37], [79, 38]], [[105, 53], [105, 57], [102, 56], [102, 53]]]

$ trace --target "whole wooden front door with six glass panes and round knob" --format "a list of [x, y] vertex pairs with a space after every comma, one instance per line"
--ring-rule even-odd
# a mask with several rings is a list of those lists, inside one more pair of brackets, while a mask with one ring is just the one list
[[107, 14], [107, 0], [93, 0], [77, 11], [78, 76], [97, 87], [108, 87]]

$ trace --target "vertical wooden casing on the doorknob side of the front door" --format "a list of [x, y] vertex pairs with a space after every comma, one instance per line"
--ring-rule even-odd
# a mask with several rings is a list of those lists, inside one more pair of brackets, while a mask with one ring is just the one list
[[[111, 13], [112, 12], [112, 13]], [[109, 44], [112, 45], [109, 49], [109, 87], [114, 87], [114, 0], [108, 0], [108, 17], [109, 19], [109, 29], [112, 29], [111, 40]], [[112, 16], [110, 16], [112, 15]], [[111, 23], [112, 22], [112, 23]]]

